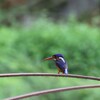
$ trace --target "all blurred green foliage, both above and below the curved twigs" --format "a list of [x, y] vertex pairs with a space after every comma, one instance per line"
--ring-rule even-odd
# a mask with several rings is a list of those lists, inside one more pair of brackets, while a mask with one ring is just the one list
[[[0, 27], [0, 73], [55, 72], [45, 57], [62, 53], [69, 65], [69, 73], [99, 76], [100, 29], [70, 20], [67, 24], [47, 19], [34, 21], [32, 27]], [[9, 81], [11, 80], [11, 81]], [[0, 98], [37, 90], [80, 85], [81, 80], [50, 78], [0, 79]], [[92, 83], [87, 81], [87, 83]], [[23, 87], [22, 89], [20, 89]], [[25, 87], [25, 88], [24, 88]], [[20, 90], [20, 91], [19, 91]], [[5, 92], [6, 91], [6, 92]], [[35, 97], [34, 100], [94, 100], [99, 90], [64, 92]], [[76, 94], [75, 96], [72, 96]], [[57, 96], [56, 96], [57, 95]], [[93, 98], [92, 98], [93, 96]], [[100, 98], [99, 98], [100, 99]], [[29, 99], [30, 100], [30, 99]], [[32, 98], [33, 100], [33, 98]]]

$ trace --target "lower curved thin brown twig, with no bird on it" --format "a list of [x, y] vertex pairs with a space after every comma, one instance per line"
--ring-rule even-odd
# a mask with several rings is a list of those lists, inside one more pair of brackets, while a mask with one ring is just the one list
[[98, 84], [98, 85], [72, 86], [72, 87], [66, 87], [66, 88], [43, 90], [43, 91], [39, 91], [39, 92], [33, 92], [33, 93], [28, 93], [28, 94], [24, 94], [24, 95], [20, 95], [20, 96], [16, 96], [16, 97], [7, 98], [4, 100], [19, 100], [19, 99], [23, 99], [23, 98], [28, 98], [28, 97], [32, 97], [32, 96], [38, 96], [38, 95], [43, 95], [43, 94], [48, 94], [48, 93], [53, 93], [53, 92], [62, 92], [62, 91], [89, 89], [89, 88], [100, 88], [100, 84]]

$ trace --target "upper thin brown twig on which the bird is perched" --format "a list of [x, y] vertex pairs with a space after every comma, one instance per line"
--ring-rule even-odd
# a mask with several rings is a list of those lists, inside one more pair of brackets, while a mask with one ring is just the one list
[[53, 77], [71, 77], [71, 78], [83, 78], [83, 79], [91, 79], [100, 81], [100, 77], [94, 76], [84, 76], [84, 75], [75, 75], [75, 74], [53, 74], [53, 73], [7, 73], [0, 74], [0, 78], [2, 77], [21, 77], [21, 76], [53, 76]]

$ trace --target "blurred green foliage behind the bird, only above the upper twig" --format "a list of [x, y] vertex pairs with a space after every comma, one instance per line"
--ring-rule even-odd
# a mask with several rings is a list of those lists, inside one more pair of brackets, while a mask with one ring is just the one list
[[1, 27], [0, 65], [2, 70], [41, 71], [47, 69], [43, 58], [62, 53], [71, 73], [95, 75], [100, 66], [99, 31], [75, 21], [62, 25], [42, 19], [30, 28]]

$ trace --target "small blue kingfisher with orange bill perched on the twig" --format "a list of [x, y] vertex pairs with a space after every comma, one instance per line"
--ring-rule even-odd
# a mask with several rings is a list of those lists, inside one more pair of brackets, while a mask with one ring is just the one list
[[62, 54], [54, 54], [51, 57], [45, 58], [44, 60], [54, 60], [58, 69], [58, 74], [60, 74], [60, 72], [63, 74], [68, 74], [68, 64]]

